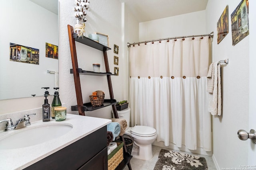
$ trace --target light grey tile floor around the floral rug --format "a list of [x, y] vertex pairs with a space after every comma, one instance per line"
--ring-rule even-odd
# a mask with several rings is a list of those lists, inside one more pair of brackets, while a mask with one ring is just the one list
[[[156, 161], [158, 159], [158, 155], [159, 155], [161, 149], [171, 150], [168, 148], [163, 148], [163, 147], [158, 147], [158, 146], [152, 145], [153, 158], [151, 158], [150, 160], [140, 160], [140, 159], [132, 158], [130, 160], [132, 170], [154, 170], [154, 167], [155, 167], [155, 164], [156, 164]], [[179, 150], [177, 152], [182, 152], [182, 151]], [[212, 156], [194, 154], [194, 153], [190, 153], [190, 152], [182, 152], [182, 153], [204, 157], [206, 159], [208, 170], [216, 170], [216, 167], [212, 160]], [[128, 166], [126, 166], [124, 168], [124, 170], [129, 170]]]

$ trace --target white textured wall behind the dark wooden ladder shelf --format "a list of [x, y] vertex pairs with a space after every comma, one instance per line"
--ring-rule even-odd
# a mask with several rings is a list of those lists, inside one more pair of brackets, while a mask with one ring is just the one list
[[[60, 99], [66, 103], [67, 112], [78, 114], [77, 111], [71, 111], [71, 106], [76, 105], [76, 92], [74, 88], [73, 74], [70, 74], [72, 68], [70, 46], [68, 40], [67, 25], [74, 27], [76, 18], [73, 11], [74, 1], [60, 0], [60, 39], [59, 39], [59, 72], [60, 72]], [[122, 76], [126, 74], [123, 68], [125, 62], [122, 58], [122, 4], [118, 0], [90, 1], [90, 11], [87, 13], [86, 35], [89, 33], [100, 32], [109, 36], [109, 47], [112, 50], [107, 51], [110, 72], [114, 73], [114, 44], [119, 46], [119, 76], [111, 76], [114, 98], [116, 100], [125, 100], [122, 95], [125, 90], [122, 86]], [[100, 63], [100, 71], [104, 72], [104, 58], [102, 51], [98, 51], [86, 45], [76, 43], [78, 56], [78, 66], [83, 70], [92, 70], [93, 63]], [[96, 90], [105, 92], [105, 99], [109, 99], [108, 83], [106, 76], [88, 76], [80, 75], [83, 102], [90, 102], [89, 95]], [[96, 111], [88, 111], [86, 115], [94, 117], [110, 118], [112, 107], [104, 107]]]

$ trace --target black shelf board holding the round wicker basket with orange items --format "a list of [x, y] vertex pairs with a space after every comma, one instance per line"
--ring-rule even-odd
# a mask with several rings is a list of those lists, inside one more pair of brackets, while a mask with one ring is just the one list
[[[106, 106], [111, 106], [116, 104], [116, 100], [115, 99], [105, 99], [104, 103], [102, 104], [102, 106], [92, 106], [91, 102], [90, 103], [85, 103], [84, 106], [82, 107], [83, 111], [93, 111], [93, 110], [97, 110]], [[71, 110], [72, 111], [78, 111], [78, 107], [77, 105], [75, 106], [71, 106]]]

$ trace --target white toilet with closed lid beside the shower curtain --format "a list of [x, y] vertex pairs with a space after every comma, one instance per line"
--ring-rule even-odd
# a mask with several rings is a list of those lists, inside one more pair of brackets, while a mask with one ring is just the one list
[[133, 139], [132, 156], [137, 159], [150, 160], [152, 155], [152, 143], [156, 140], [156, 129], [148, 126], [129, 127], [130, 125], [130, 107], [122, 111], [117, 111], [118, 117], [126, 119], [126, 135]]

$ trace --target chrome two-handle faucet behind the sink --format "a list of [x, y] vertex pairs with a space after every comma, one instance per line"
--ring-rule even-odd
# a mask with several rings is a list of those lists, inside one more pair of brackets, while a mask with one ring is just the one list
[[36, 113], [33, 113], [33, 114], [26, 114], [24, 115], [24, 117], [18, 119], [15, 123], [15, 125], [13, 126], [13, 123], [12, 123], [12, 119], [11, 118], [8, 118], [8, 119], [5, 119], [5, 120], [2, 120], [0, 121], [0, 123], [6, 121], [6, 127], [4, 128], [4, 131], [12, 131], [14, 129], [20, 129], [20, 128], [23, 128], [23, 127], [26, 127], [26, 126], [29, 126], [30, 125], [30, 115], [36, 115]]

